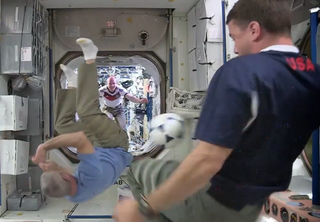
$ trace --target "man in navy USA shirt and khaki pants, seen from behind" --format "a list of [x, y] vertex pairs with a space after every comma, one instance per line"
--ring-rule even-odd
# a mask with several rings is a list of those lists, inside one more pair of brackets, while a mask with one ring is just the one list
[[133, 163], [127, 180], [137, 201], [119, 203], [118, 222], [254, 222], [266, 198], [288, 188], [319, 127], [320, 68], [292, 43], [289, 1], [239, 0], [227, 24], [241, 56], [209, 85], [199, 145], [181, 164]]

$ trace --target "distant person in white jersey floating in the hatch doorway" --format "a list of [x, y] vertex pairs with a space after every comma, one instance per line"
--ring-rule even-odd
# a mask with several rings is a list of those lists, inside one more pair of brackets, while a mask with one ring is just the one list
[[107, 80], [107, 84], [99, 89], [103, 98], [104, 106], [102, 112], [104, 112], [110, 119], [115, 118], [119, 126], [126, 131], [126, 116], [123, 107], [123, 99], [126, 98], [134, 103], [148, 103], [146, 98], [139, 99], [128, 93], [126, 89], [117, 84], [117, 80], [114, 76], [110, 76]]

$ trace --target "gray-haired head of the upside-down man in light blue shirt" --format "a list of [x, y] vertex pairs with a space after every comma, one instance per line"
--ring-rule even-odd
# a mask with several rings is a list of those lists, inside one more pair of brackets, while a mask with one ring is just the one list
[[71, 193], [71, 184], [62, 178], [59, 171], [44, 172], [40, 178], [41, 190], [44, 195], [62, 198]]

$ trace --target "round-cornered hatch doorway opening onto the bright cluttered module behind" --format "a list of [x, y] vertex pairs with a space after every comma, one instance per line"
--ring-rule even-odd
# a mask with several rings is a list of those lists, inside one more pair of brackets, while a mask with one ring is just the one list
[[[83, 62], [79, 52], [68, 53], [56, 64], [55, 88], [66, 88], [66, 77], [59, 64], [64, 64], [75, 70]], [[110, 76], [115, 76], [120, 86], [136, 97], [148, 98], [146, 105], [139, 105], [124, 99], [127, 133], [130, 141], [130, 150], [135, 153], [148, 139], [148, 123], [152, 117], [165, 111], [165, 64], [153, 53], [123, 53], [100, 52], [97, 59], [97, 83], [106, 84]], [[100, 98], [101, 108], [103, 97]], [[75, 121], [77, 115], [75, 114]], [[55, 132], [55, 136], [58, 135]], [[155, 147], [144, 156], [154, 156], [163, 147]], [[73, 147], [61, 147], [60, 151], [73, 163], [78, 163], [77, 151]]]

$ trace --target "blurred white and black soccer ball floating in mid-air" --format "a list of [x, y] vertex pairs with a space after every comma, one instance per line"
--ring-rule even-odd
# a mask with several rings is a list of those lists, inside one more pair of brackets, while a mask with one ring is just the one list
[[174, 113], [158, 115], [150, 123], [150, 140], [156, 145], [176, 146], [182, 141], [184, 132], [184, 119]]

